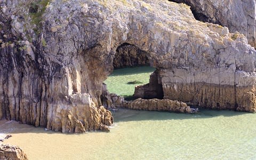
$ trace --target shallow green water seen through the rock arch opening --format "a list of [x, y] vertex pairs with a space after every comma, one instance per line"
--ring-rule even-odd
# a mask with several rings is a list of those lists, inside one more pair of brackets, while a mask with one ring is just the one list
[[[130, 96], [134, 93], [136, 85], [149, 83], [149, 75], [156, 69], [149, 66], [115, 69], [104, 83], [107, 84], [110, 93]], [[132, 81], [140, 81], [141, 84], [128, 84]]]

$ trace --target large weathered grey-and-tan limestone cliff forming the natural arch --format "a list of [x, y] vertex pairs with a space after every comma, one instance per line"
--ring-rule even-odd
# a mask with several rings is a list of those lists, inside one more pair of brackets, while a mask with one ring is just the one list
[[113, 118], [100, 107], [102, 82], [124, 43], [148, 53], [165, 99], [255, 111], [256, 51], [243, 35], [197, 21], [185, 4], [0, 5], [0, 118], [62, 132], [107, 130]]

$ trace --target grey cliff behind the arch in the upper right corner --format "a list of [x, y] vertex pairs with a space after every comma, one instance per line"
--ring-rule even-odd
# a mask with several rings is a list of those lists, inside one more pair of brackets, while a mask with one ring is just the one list
[[195, 18], [204, 22], [226, 26], [233, 33], [238, 31], [247, 37], [249, 44], [256, 46], [255, 0], [215, 1], [215, 0], [171, 0], [191, 6]]

